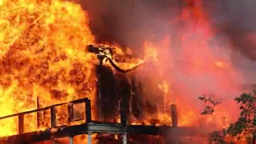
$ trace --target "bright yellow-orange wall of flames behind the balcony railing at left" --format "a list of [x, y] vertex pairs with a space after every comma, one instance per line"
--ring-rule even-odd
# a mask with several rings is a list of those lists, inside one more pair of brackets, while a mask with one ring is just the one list
[[[62, 0], [0, 1], [0, 116], [93, 96], [94, 42], [81, 6]], [[8, 101], [8, 102], [7, 102]], [[30, 116], [34, 119], [34, 116]], [[35, 119], [34, 119], [35, 121]], [[16, 119], [1, 121], [0, 136], [17, 133]], [[35, 123], [25, 129], [36, 129]]]

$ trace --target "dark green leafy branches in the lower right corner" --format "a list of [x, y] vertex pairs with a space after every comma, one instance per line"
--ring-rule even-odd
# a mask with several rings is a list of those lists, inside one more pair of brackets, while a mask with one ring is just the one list
[[[240, 136], [250, 134], [246, 139], [251, 141], [252, 133], [256, 132], [256, 91], [253, 93], [243, 93], [240, 97], [235, 98], [237, 104], [240, 104], [240, 116], [235, 123], [231, 123], [227, 128], [227, 131], [213, 131], [210, 134], [209, 140], [217, 144], [227, 144], [224, 141], [225, 136], [234, 136], [240, 139]], [[201, 96], [198, 99], [208, 104], [205, 106], [202, 115], [211, 115], [214, 112], [214, 107], [220, 102], [212, 100], [212, 97]]]

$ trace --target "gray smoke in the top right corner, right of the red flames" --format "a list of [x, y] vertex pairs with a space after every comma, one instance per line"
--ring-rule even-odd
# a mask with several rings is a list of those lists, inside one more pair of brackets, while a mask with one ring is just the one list
[[[234, 54], [239, 52], [256, 60], [256, 1], [215, 0], [214, 11], [209, 11], [217, 31], [231, 42]], [[218, 1], [218, 2], [217, 2]], [[233, 56], [233, 59], [234, 58]]]

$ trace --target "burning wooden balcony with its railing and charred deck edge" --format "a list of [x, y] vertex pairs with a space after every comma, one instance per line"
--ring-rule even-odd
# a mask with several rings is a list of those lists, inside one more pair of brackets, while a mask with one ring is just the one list
[[[75, 119], [73, 115], [73, 106], [75, 104], [85, 104], [85, 117]], [[68, 105], [68, 123], [74, 121], [83, 121], [78, 125], [56, 125], [56, 107], [67, 104]], [[44, 131], [34, 131], [24, 133], [24, 115], [29, 115], [33, 112], [40, 112], [43, 110], [51, 110], [51, 127]], [[87, 134], [88, 144], [91, 144], [92, 133], [117, 133], [123, 135], [123, 144], [127, 144], [127, 135], [159, 135], [159, 136], [205, 136], [203, 132], [199, 132], [197, 128], [189, 127], [173, 127], [168, 125], [155, 126], [155, 125], [124, 125], [123, 123], [108, 123], [91, 120], [91, 102], [90, 99], [77, 99], [67, 103], [43, 107], [27, 112], [21, 112], [5, 117], [0, 117], [0, 120], [9, 117], [19, 117], [19, 134], [13, 136], [6, 136], [0, 138], [1, 144], [33, 144], [40, 141], [58, 139], [69, 137], [69, 144], [73, 144], [74, 136]], [[125, 120], [125, 118], [123, 118]]]

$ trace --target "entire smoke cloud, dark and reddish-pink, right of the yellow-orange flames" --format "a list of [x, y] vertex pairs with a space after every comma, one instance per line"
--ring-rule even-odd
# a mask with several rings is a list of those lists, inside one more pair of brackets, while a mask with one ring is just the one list
[[[202, 24], [195, 28], [197, 22], [189, 14], [188, 20], [179, 21], [181, 13], [186, 13], [181, 11], [184, 1], [81, 0], [80, 3], [89, 14], [90, 28], [98, 43], [118, 43], [134, 52], [142, 50], [139, 48], [145, 40], [156, 44], [162, 63], [157, 68], [162, 69], [162, 75], [156, 76], [151, 66], [142, 72], [168, 80], [172, 89], [170, 97], [179, 99], [179, 106], [189, 104], [200, 109], [203, 104], [197, 97], [205, 92], [216, 93], [228, 106], [221, 112], [227, 111], [230, 115], [236, 111], [233, 99], [241, 93], [242, 85], [256, 80], [253, 76], [256, 69], [256, 15], [253, 14], [256, 2], [203, 0], [209, 26]], [[197, 1], [187, 0], [186, 4], [196, 7]], [[208, 38], [209, 33], [211, 38]], [[216, 71], [211, 67], [214, 61], [225, 61], [227, 65]], [[195, 115], [186, 114], [190, 107], [180, 109], [186, 119], [195, 119]]]

